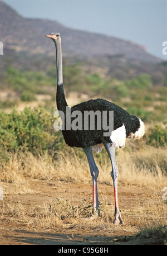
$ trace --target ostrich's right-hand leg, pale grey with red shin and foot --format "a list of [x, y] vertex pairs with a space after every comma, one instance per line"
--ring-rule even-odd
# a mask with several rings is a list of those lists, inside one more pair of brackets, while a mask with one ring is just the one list
[[118, 177], [118, 168], [116, 165], [116, 160], [115, 160], [115, 146], [112, 146], [111, 143], [107, 143], [104, 138], [101, 138], [102, 143], [104, 144], [106, 151], [110, 157], [111, 164], [112, 164], [112, 172], [111, 172], [111, 177], [114, 183], [114, 198], [115, 198], [115, 220], [114, 224], [123, 224], [124, 222], [122, 221], [121, 214], [119, 211], [119, 205], [118, 205], [118, 200], [117, 200], [117, 177]]

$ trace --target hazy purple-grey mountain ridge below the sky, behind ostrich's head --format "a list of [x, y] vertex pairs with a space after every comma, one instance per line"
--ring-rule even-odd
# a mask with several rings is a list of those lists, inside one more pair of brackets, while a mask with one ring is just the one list
[[[7, 4], [0, 1], [0, 41], [4, 48], [29, 53], [52, 54], [54, 45], [45, 38], [52, 31], [61, 32], [65, 56], [83, 57], [121, 55], [149, 63], [161, 60], [146, 52], [145, 46], [102, 34], [74, 30], [57, 21], [24, 18]], [[96, 43], [95, 43], [96, 42]]]

